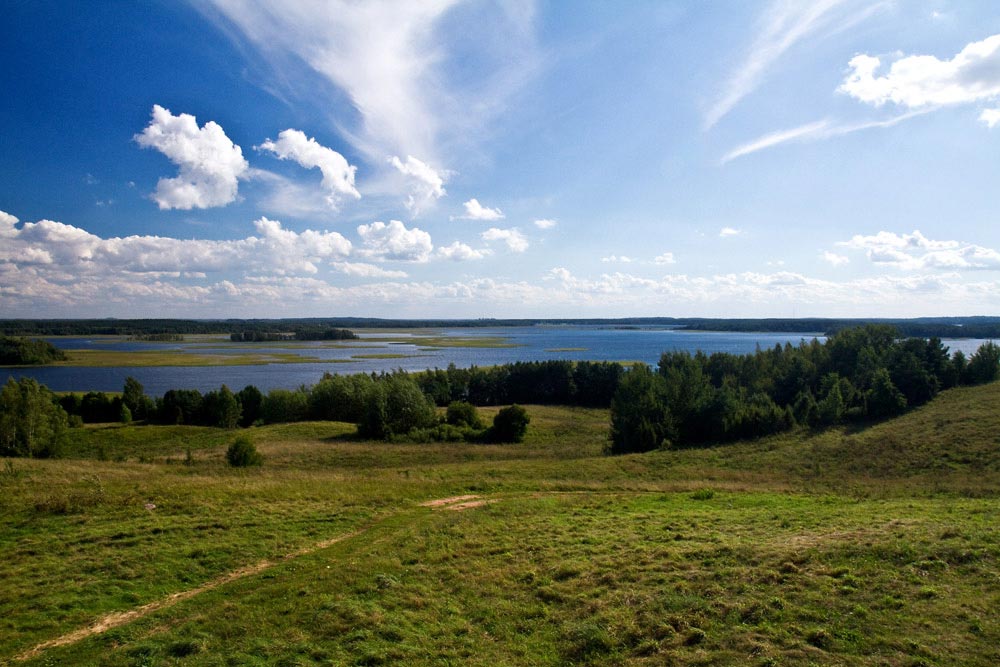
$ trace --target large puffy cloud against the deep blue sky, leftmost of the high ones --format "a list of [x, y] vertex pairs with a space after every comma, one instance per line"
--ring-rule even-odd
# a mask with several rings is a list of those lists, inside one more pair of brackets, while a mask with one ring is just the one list
[[225, 206], [236, 199], [239, 180], [250, 165], [214, 121], [201, 128], [194, 116], [174, 116], [160, 105], [141, 134], [133, 137], [143, 148], [155, 148], [179, 168], [175, 178], [161, 178], [153, 199], [161, 209]]

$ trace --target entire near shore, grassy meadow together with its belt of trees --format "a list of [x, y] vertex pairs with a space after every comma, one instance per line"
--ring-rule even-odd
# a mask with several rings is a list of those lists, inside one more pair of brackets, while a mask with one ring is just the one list
[[12, 379], [0, 662], [993, 665], [998, 373], [866, 327], [655, 371]]

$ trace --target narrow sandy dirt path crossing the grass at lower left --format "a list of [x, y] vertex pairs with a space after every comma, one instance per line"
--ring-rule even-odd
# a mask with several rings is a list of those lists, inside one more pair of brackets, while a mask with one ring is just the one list
[[[427, 502], [420, 503], [421, 507], [430, 507], [432, 509], [449, 509], [461, 511], [465, 509], [472, 509], [473, 507], [481, 507], [487, 503], [495, 502], [493, 500], [482, 500], [476, 495], [466, 495], [466, 496], [452, 496], [451, 498], [438, 498], [436, 500], [428, 500]], [[232, 572], [227, 572], [226, 574], [213, 579], [209, 582], [197, 586], [195, 588], [188, 589], [186, 591], [179, 591], [173, 593], [163, 598], [162, 600], [156, 600], [155, 602], [150, 602], [144, 604], [141, 607], [136, 607], [135, 609], [129, 609], [128, 611], [116, 611], [105, 616], [100, 617], [90, 625], [84, 626], [73, 632], [67, 633], [55, 639], [49, 639], [47, 641], [38, 644], [32, 649], [21, 653], [14, 657], [14, 662], [22, 662], [24, 660], [29, 660], [39, 655], [43, 651], [50, 648], [56, 648], [58, 646], [68, 646], [69, 644], [75, 644], [76, 642], [82, 641], [87, 637], [92, 637], [94, 635], [99, 635], [101, 633], [107, 632], [113, 628], [126, 625], [132, 621], [138, 620], [145, 616], [148, 616], [154, 612], [160, 611], [161, 609], [167, 609], [174, 606], [178, 602], [183, 602], [193, 598], [196, 595], [204, 593], [205, 591], [210, 591], [213, 588], [218, 588], [230, 582], [236, 581], [237, 579], [242, 579], [243, 577], [250, 577], [255, 574], [259, 574], [264, 570], [274, 567], [275, 565], [280, 565], [286, 561], [293, 558], [299, 558], [301, 556], [306, 556], [320, 549], [326, 549], [327, 547], [333, 546], [338, 542], [343, 542], [344, 540], [349, 540], [353, 537], [357, 537], [365, 532], [367, 529], [356, 530], [350, 533], [344, 533], [343, 535], [338, 535], [337, 537], [332, 537], [328, 540], [323, 540], [322, 542], [317, 542], [308, 547], [299, 549], [298, 551], [293, 551], [290, 554], [286, 554], [277, 560], [262, 560], [259, 563], [253, 565], [247, 565], [246, 567], [241, 567], [238, 570], [233, 570]]]

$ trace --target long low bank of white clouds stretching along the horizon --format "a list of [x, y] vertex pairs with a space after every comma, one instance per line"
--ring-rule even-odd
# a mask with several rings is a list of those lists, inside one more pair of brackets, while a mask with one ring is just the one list
[[[669, 308], [690, 315], [759, 317], [778, 316], [794, 302], [830, 316], [903, 317], [1000, 307], [1000, 281], [968, 280], [954, 270], [832, 281], [789, 271], [657, 279], [624, 272], [577, 276], [559, 267], [533, 282], [403, 280], [402, 272], [349, 261], [350, 243], [335, 233], [296, 233], [267, 218], [257, 220], [255, 230], [254, 236], [229, 241], [105, 239], [54, 221], [22, 224], [0, 212], [0, 312], [12, 317], [82, 317], [95, 311], [132, 317], [301, 317], [363, 308], [386, 317], [461, 317], [489, 307], [503, 316], [523, 317], [625, 316]], [[882, 233], [851, 243], [909, 248], [911, 254], [969, 247], [916, 233]], [[456, 244], [446, 248], [463, 252]], [[326, 267], [330, 275], [311, 270]], [[336, 276], [332, 271], [365, 280], [337, 284], [330, 279]]]

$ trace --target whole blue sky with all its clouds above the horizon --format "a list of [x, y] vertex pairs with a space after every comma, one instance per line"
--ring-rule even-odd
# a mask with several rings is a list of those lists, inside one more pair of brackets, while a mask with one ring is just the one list
[[1000, 12], [13, 2], [8, 317], [1000, 311]]

